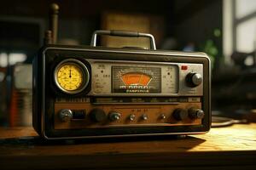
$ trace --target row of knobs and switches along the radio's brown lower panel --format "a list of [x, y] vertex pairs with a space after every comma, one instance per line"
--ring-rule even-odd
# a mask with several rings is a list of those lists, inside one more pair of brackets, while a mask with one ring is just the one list
[[[202, 119], [205, 116], [205, 113], [201, 109], [190, 108], [189, 110], [185, 110], [185, 109], [179, 108], [173, 111], [172, 116], [177, 121], [183, 121], [188, 117], [190, 119]], [[64, 122], [71, 119], [84, 119], [85, 111], [83, 110], [71, 111], [68, 109], [64, 109], [59, 112], [59, 117], [61, 121], [64, 121]], [[114, 122], [114, 121], [118, 121], [121, 118], [121, 114], [116, 111], [110, 111], [107, 116], [105, 111], [103, 111], [102, 109], [96, 108], [90, 111], [89, 117], [90, 117], [90, 120], [93, 122], [104, 122], [107, 120], [107, 118], [110, 121]], [[128, 118], [130, 121], [134, 121], [136, 119], [136, 116], [131, 114]], [[143, 114], [141, 116], [141, 119], [144, 121], [148, 120], [147, 114]], [[160, 119], [166, 119], [165, 114], [161, 114]]]

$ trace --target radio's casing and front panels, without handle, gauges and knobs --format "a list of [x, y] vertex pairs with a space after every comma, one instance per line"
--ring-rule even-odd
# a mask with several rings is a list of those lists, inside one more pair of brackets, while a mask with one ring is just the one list
[[[89, 71], [90, 81], [87, 88], [79, 94], [62, 93], [55, 85], [55, 67], [65, 59], [78, 59], [86, 65]], [[105, 65], [102, 77], [102, 67], [98, 65]], [[166, 82], [170, 81], [163, 79], [163, 74], [166, 74], [166, 70], [170, 67], [168, 65], [176, 70], [171, 72], [173, 74], [171, 76], [177, 77], [174, 84], [168, 84]], [[114, 85], [113, 79], [118, 79], [118, 72], [125, 70], [126, 67], [133, 68], [131, 72], [137, 71], [140, 67], [147, 68], [144, 69], [146, 72], [155, 70], [152, 74], [160, 74], [159, 83], [155, 82], [160, 90], [155, 88], [152, 92], [149, 89], [148, 93], [143, 93], [144, 89], [142, 93], [140, 91], [119, 93], [121, 89], [113, 89], [113, 86], [117, 86]], [[33, 61], [33, 127], [44, 139], [206, 133], [211, 126], [210, 67], [210, 59], [204, 53], [134, 48], [44, 46]], [[191, 71], [201, 74], [200, 86], [186, 85], [186, 77]], [[115, 83], [118, 84], [119, 80], [116, 81]], [[174, 110], [179, 108], [188, 110], [191, 105], [198, 106], [204, 111], [202, 119], [179, 122], [168, 118], [173, 115]], [[61, 122], [57, 116], [61, 109], [86, 110], [86, 116], [82, 121]], [[107, 114], [115, 110], [122, 117], [129, 116], [132, 111], [135, 111], [136, 117], [146, 114], [149, 118], [148, 122], [131, 123], [121, 118], [118, 122], [106, 120], [102, 123], [93, 123], [88, 116], [93, 109], [101, 109]], [[157, 119], [161, 112], [167, 116], [165, 121]]]

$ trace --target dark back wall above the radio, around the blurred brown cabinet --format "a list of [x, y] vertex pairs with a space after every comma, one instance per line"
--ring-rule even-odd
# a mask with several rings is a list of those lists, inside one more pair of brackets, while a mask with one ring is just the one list
[[[201, 44], [212, 36], [214, 28], [222, 27], [222, 0], [9, 0], [2, 2], [0, 18], [32, 18], [40, 20], [41, 29], [45, 29], [48, 27], [50, 3], [58, 3], [61, 8], [59, 38], [74, 39], [84, 45], [90, 43], [91, 33], [101, 28], [101, 14], [104, 11], [163, 16], [166, 19], [166, 37], [176, 38], [180, 47], [178, 49], [187, 42]], [[39, 31], [41, 42], [43, 29]], [[221, 42], [218, 42], [218, 46], [222, 48]]]

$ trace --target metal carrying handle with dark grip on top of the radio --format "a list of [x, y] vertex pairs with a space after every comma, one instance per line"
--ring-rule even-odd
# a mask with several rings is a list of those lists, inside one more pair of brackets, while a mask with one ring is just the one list
[[97, 35], [108, 35], [108, 36], [118, 36], [118, 37], [148, 37], [150, 39], [150, 48], [153, 50], [156, 50], [154, 36], [148, 33], [142, 33], [137, 31], [97, 30], [97, 31], [94, 31], [92, 34], [90, 46], [96, 47]]

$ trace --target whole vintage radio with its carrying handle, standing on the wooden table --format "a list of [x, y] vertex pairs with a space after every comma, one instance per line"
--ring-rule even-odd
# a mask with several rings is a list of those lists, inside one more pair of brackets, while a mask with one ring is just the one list
[[[151, 49], [96, 47], [102, 34], [149, 37]], [[33, 62], [33, 127], [45, 139], [206, 133], [210, 76], [207, 54], [156, 50], [145, 33], [45, 45]]]

